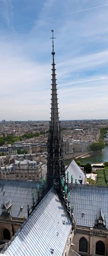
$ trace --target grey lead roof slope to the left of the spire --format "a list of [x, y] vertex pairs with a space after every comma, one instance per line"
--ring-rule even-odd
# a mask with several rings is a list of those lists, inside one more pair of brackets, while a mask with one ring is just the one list
[[[40, 184], [40, 186], [42, 186]], [[34, 190], [34, 201], [37, 199], [36, 181], [0, 180], [0, 215], [5, 204], [8, 209], [11, 207], [12, 217], [23, 218], [27, 216], [27, 205], [31, 207]], [[20, 209], [20, 207], [23, 207]]]

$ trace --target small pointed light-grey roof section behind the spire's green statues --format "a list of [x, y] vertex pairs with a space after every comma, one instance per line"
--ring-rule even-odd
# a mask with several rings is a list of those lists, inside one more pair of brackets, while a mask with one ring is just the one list
[[82, 180], [82, 184], [85, 182], [85, 174], [82, 172], [80, 167], [77, 165], [75, 160], [72, 160], [65, 170], [65, 175], [67, 178], [67, 172], [69, 174], [68, 183], [71, 183], [71, 175], [74, 177], [73, 183], [75, 183], [75, 179], [77, 179], [77, 183], [80, 184], [79, 180]]

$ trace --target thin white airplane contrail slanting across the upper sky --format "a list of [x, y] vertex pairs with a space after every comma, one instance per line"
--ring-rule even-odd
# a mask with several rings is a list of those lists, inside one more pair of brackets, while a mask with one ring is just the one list
[[[51, 19], [54, 19], [54, 18], [57, 18], [57, 17], [62, 17], [62, 16], [66, 16], [66, 15], [69, 15], [69, 14], [79, 13], [79, 12], [85, 12], [85, 11], [88, 11], [88, 10], [97, 9], [97, 8], [104, 7], [104, 6], [108, 6], [108, 4], [104, 4], [104, 5], [101, 5], [101, 6], [95, 6], [95, 7], [88, 8], [88, 9], [83, 9], [81, 11], [68, 12], [68, 13], [65, 13], [65, 14], [62, 14], [62, 15], [58, 15], [58, 16], [54, 16], [54, 17], [49, 17], [49, 18], [43, 19], [43, 20], [36, 20], [34, 22], [22, 24], [22, 25], [19, 25], [19, 26], [13, 26], [13, 27], [8, 28], [8, 29], [15, 29], [15, 28], [19, 28], [21, 26], [27, 26], [27, 25], [34, 24], [34, 23], [37, 23], [37, 22], [40, 22], [40, 21], [51, 20]], [[3, 30], [7, 30], [7, 29], [3, 29]]]

